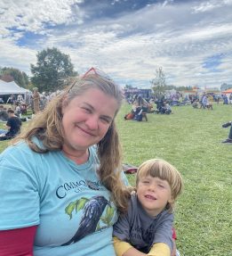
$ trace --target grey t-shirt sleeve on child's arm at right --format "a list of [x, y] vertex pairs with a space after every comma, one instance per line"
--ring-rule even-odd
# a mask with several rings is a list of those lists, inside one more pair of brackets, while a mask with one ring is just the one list
[[158, 226], [156, 227], [156, 235], [154, 237], [153, 244], [167, 244], [172, 251], [172, 227], [173, 214], [169, 213], [168, 211], [164, 211], [164, 213], [158, 220]]

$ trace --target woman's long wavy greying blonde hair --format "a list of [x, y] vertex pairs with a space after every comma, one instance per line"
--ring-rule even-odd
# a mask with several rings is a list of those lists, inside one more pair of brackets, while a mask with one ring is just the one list
[[[76, 78], [69, 87], [55, 96], [44, 111], [36, 114], [30, 121], [28, 128], [23, 130], [13, 140], [13, 143], [24, 140], [36, 153], [60, 151], [64, 144], [62, 127], [64, 102], [70, 103], [77, 95], [83, 95], [85, 91], [92, 88], [100, 89], [103, 93], [113, 96], [118, 103], [117, 111], [119, 110], [123, 100], [120, 87], [109, 78], [97, 74], [87, 74], [84, 77]], [[35, 143], [35, 137], [42, 142], [42, 146]], [[106, 136], [97, 144], [97, 153], [100, 159], [100, 180], [111, 192], [118, 211], [126, 211], [130, 194], [121, 177], [122, 155], [115, 120], [108, 128]]]

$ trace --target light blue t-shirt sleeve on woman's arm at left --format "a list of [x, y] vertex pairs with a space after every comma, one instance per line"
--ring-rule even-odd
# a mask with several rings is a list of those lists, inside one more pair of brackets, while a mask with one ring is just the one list
[[35, 168], [29, 155], [14, 146], [0, 155], [0, 230], [39, 224]]

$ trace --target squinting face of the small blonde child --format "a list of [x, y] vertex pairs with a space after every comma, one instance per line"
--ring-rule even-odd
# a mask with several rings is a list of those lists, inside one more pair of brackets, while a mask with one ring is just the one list
[[137, 196], [143, 209], [154, 217], [164, 210], [167, 202], [172, 202], [169, 183], [166, 180], [151, 176], [140, 178]]

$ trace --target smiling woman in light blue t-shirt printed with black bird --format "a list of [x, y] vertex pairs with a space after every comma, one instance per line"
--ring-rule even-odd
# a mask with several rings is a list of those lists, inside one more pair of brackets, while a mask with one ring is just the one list
[[116, 209], [129, 198], [115, 126], [121, 103], [120, 88], [92, 69], [1, 154], [0, 255], [115, 255]]

